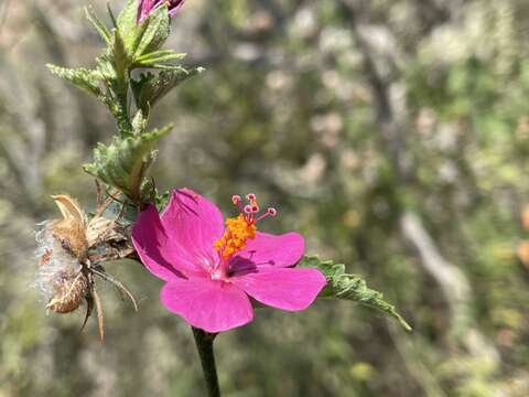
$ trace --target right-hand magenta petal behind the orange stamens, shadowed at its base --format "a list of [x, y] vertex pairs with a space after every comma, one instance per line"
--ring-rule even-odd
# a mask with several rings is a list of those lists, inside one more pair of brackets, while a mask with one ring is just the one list
[[260, 266], [289, 267], [295, 265], [305, 250], [305, 240], [298, 233], [271, 235], [258, 232], [245, 249], [231, 259], [233, 276]]

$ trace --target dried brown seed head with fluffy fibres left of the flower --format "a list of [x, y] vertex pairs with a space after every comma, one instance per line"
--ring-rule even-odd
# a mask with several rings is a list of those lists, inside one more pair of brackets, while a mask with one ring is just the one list
[[123, 290], [137, 309], [130, 292], [107, 275], [100, 265], [105, 260], [123, 258], [133, 249], [119, 223], [101, 216], [106, 208], [102, 204], [88, 221], [74, 198], [63, 194], [52, 198], [63, 218], [45, 222], [37, 233], [40, 266], [36, 285], [47, 301], [46, 308], [57, 313], [75, 311], [86, 300], [87, 313], [83, 326], [96, 307], [102, 340], [102, 311], [94, 275]]

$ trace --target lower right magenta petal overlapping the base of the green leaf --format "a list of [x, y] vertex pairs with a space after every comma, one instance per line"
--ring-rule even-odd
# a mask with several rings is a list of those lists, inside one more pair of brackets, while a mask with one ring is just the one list
[[230, 281], [261, 303], [289, 311], [306, 309], [325, 287], [316, 269], [260, 267]]

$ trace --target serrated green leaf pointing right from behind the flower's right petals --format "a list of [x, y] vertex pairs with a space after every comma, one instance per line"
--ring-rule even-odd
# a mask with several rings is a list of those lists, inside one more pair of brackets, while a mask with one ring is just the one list
[[320, 292], [319, 298], [355, 301], [397, 319], [407, 331], [411, 331], [411, 326], [395, 307], [384, 300], [382, 293], [367, 287], [366, 281], [359, 276], [346, 273], [345, 265], [334, 264], [332, 260], [322, 261], [317, 256], [304, 256], [298, 267], [319, 269], [326, 277], [327, 285]]

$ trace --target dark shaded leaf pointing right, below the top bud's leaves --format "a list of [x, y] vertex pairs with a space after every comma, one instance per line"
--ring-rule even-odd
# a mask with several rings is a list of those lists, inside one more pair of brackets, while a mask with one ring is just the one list
[[171, 71], [161, 71], [158, 74], [151, 72], [142, 73], [140, 79], [131, 81], [137, 107], [147, 115], [149, 109], [171, 89], [202, 72], [204, 72], [203, 67], [195, 67], [188, 71], [179, 66]]

